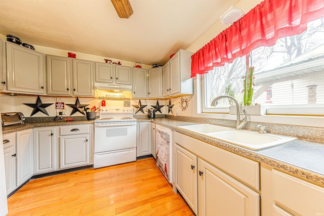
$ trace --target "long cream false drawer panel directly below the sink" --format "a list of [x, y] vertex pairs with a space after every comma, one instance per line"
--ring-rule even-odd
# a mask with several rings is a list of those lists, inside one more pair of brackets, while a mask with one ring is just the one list
[[231, 176], [260, 190], [260, 164], [192, 137], [174, 133], [174, 142]]

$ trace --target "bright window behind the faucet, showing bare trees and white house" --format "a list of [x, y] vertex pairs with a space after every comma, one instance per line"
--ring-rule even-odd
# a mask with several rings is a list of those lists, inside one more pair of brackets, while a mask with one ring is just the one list
[[[282, 37], [272, 47], [259, 47], [250, 55], [215, 67], [204, 76], [204, 112], [217, 112], [211, 101], [220, 95], [242, 102], [243, 78], [254, 67], [253, 104], [324, 104], [324, 18], [307, 24], [299, 35]], [[217, 107], [228, 107], [225, 99]], [[226, 111], [225, 111], [226, 112]], [[228, 111], [227, 111], [228, 112]]]

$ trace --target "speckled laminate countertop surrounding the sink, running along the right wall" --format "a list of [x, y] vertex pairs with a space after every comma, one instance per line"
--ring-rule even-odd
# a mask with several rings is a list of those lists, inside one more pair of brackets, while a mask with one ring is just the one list
[[[138, 122], [141, 121], [148, 121], [148, 119], [138, 119]], [[278, 170], [289, 172], [301, 179], [324, 187], [324, 144], [296, 140], [279, 146], [254, 151], [178, 127], [197, 124], [194, 122], [179, 121], [170, 118], [154, 118], [152, 122], [260, 163], [271, 165]]]

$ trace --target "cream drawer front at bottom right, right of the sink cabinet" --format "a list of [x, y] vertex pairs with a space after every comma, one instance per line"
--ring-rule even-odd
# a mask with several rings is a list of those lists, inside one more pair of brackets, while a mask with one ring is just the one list
[[273, 200], [301, 215], [324, 212], [324, 188], [272, 169]]

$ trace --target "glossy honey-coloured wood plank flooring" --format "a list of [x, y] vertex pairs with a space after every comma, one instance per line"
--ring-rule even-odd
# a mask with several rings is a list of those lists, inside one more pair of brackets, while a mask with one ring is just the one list
[[8, 216], [194, 215], [153, 158], [31, 180], [8, 208]]

